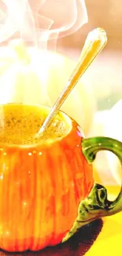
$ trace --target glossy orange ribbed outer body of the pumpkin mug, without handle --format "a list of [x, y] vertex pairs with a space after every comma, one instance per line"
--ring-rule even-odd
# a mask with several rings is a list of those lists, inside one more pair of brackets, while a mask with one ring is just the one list
[[83, 157], [82, 134], [72, 129], [54, 143], [0, 145], [0, 247], [40, 250], [61, 242], [80, 200], [94, 184]]

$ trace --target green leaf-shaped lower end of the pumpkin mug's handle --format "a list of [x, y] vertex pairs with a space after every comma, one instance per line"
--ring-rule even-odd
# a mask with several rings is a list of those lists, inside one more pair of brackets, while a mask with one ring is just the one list
[[105, 187], [100, 184], [94, 184], [94, 187], [88, 197], [79, 203], [76, 221], [62, 242], [64, 243], [72, 237], [79, 231], [79, 228], [82, 228], [84, 225], [91, 223], [91, 221], [94, 221], [96, 218], [101, 217], [102, 211], [104, 215], [105, 209], [108, 210], [109, 207], [107, 202], [107, 191]]

